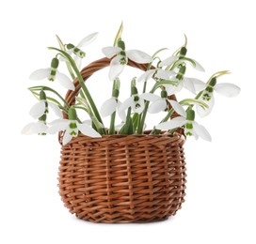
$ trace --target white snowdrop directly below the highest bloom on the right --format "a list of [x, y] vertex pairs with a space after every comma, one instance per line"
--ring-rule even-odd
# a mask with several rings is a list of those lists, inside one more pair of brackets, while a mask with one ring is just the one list
[[179, 73], [176, 74], [176, 77], [173, 78], [173, 82], [176, 82], [177, 85], [174, 84], [165, 84], [168, 91], [168, 95], [172, 95], [182, 90], [182, 88], [186, 88], [193, 94], [196, 94], [197, 91], [202, 90], [206, 87], [202, 81], [196, 78], [188, 78], [184, 77], [186, 67], [183, 65], [180, 67]]

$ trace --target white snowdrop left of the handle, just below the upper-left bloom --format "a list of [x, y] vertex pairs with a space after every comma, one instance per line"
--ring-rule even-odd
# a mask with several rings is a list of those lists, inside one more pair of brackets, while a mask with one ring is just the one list
[[59, 84], [61, 84], [65, 88], [73, 91], [74, 85], [72, 84], [71, 79], [67, 75], [60, 73], [57, 70], [58, 64], [59, 64], [58, 59], [54, 57], [52, 59], [50, 68], [37, 69], [29, 76], [29, 79], [34, 81], [40, 81], [47, 78], [49, 81], [51, 82], [57, 81]]

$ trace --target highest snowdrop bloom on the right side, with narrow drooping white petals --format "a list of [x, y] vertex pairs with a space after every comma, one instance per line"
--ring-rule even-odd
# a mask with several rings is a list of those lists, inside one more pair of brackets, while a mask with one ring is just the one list
[[193, 68], [202, 72], [204, 71], [204, 69], [202, 68], [199, 62], [197, 62], [195, 59], [185, 57], [185, 54], [186, 54], [186, 48], [182, 47], [178, 56], [168, 57], [167, 59], [160, 62], [159, 67], [168, 67], [173, 65], [174, 62], [175, 62], [175, 67], [178, 67], [183, 63], [185, 64], [189, 63]]

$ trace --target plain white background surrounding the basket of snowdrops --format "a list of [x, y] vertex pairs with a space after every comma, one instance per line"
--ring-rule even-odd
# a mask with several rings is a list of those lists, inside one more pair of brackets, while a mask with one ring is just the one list
[[[256, 243], [253, 3], [1, 3], [0, 243]], [[103, 56], [100, 49], [113, 43], [121, 21], [127, 49], [152, 53], [168, 47], [172, 53], [183, 44], [185, 33], [188, 55], [206, 69], [206, 73], [198, 74], [200, 79], [230, 69], [232, 75], [219, 81], [242, 88], [235, 99], [216, 96], [213, 114], [200, 121], [211, 132], [212, 143], [188, 138], [186, 201], [168, 221], [95, 224], [77, 220], [57, 193], [60, 146], [56, 136], [21, 135], [24, 125], [31, 121], [28, 111], [35, 102], [26, 90], [34, 84], [28, 76], [34, 69], [49, 66], [53, 53], [45, 47], [57, 45], [55, 35], [76, 43], [99, 31], [99, 38], [87, 48], [86, 65]], [[104, 91], [111, 88], [107, 76], [96, 78], [88, 85], [101, 101], [99, 96], [108, 98], [109, 93]], [[154, 123], [158, 121], [155, 118]]]

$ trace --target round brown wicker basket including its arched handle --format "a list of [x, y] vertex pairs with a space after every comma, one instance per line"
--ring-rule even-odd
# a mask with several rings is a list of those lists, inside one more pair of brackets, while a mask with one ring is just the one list
[[[147, 65], [129, 61], [132, 67]], [[103, 58], [81, 71], [86, 81], [109, 66]], [[69, 91], [75, 101], [80, 85]], [[62, 134], [60, 134], [60, 143]], [[59, 194], [65, 206], [93, 222], [161, 221], [184, 203], [184, 135], [79, 135], [63, 145], [59, 167]]]

